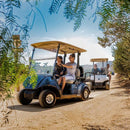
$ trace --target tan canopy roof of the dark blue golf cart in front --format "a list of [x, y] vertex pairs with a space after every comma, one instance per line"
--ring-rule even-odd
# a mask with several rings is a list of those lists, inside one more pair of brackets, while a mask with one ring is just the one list
[[39, 42], [39, 43], [31, 44], [31, 46], [33, 46], [34, 48], [45, 49], [48, 51], [56, 52], [59, 44], [60, 44], [59, 54], [86, 52], [85, 49], [61, 41]]

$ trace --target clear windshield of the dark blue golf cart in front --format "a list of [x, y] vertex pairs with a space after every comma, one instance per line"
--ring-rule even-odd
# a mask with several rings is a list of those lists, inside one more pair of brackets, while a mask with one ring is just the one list
[[43, 49], [35, 49], [31, 67], [37, 74], [53, 74], [56, 54]]

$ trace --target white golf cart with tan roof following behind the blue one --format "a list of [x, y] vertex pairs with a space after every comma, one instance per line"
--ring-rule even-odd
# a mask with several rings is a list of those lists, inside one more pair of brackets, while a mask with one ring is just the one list
[[95, 62], [101, 68], [99, 69], [100, 72], [98, 73], [86, 72], [86, 84], [91, 86], [91, 88], [94, 90], [96, 88], [104, 88], [106, 90], [109, 90], [110, 82], [109, 82], [109, 77], [107, 75], [106, 66], [105, 66], [108, 63], [108, 58], [94, 58], [91, 59], [90, 62], [93, 62], [93, 68]]

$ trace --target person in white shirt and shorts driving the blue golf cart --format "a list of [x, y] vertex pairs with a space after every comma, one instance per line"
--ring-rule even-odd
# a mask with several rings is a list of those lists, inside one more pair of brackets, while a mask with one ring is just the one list
[[75, 73], [76, 73], [76, 63], [74, 62], [75, 60], [75, 54], [71, 54], [69, 56], [70, 62], [66, 64], [62, 64], [63, 67], [67, 68], [67, 74], [60, 77], [58, 84], [60, 85], [62, 82], [62, 93], [66, 84], [66, 80], [75, 80]]

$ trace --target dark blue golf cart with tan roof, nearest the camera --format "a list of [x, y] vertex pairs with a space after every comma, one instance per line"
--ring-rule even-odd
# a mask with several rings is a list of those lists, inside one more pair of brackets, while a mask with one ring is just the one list
[[[55, 105], [56, 100], [72, 99], [72, 98], [79, 98], [81, 100], [88, 99], [91, 89], [90, 87], [87, 86], [87, 84], [85, 84], [84, 82], [82, 82], [82, 80], [80, 80], [81, 74], [79, 69], [80, 54], [82, 52], [86, 52], [86, 50], [60, 41], [47, 41], [47, 42], [34, 43], [31, 44], [31, 46], [33, 46], [33, 52], [30, 62], [30, 69], [33, 62], [36, 62], [37, 60], [45, 61], [53, 59], [54, 66], [52, 67], [52, 62], [50, 66], [47, 66], [47, 64], [44, 64], [42, 66], [42, 62], [37, 64], [35, 63], [35, 68], [38, 69], [38, 72], [40, 72], [39, 71], [40, 67], [42, 67], [42, 69], [47, 68], [50, 70], [42, 71], [42, 74], [37, 74], [37, 83], [34, 88], [30, 83], [32, 77], [31, 76], [27, 77], [27, 79], [23, 83], [24, 89], [21, 90], [17, 95], [17, 99], [21, 104], [28, 105], [29, 103], [31, 103], [33, 99], [39, 99], [41, 107], [52, 107]], [[43, 50], [48, 51], [47, 56], [50, 55], [49, 52], [53, 54], [56, 53], [56, 56], [53, 58], [35, 59], [34, 53], [36, 49], [39, 50], [41, 57], [46, 55], [45, 53], [44, 55], [41, 54], [41, 51]], [[64, 56], [64, 64], [65, 64], [67, 54], [71, 53], [77, 53], [76, 79], [66, 81], [66, 86], [62, 94], [61, 93], [62, 84], [58, 85], [57, 79], [55, 78], [54, 75], [54, 68], [56, 66], [56, 59], [58, 57], [58, 54]], [[38, 65], [38, 67], [36, 67], [36, 65]]]

